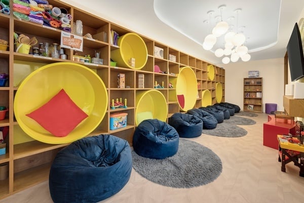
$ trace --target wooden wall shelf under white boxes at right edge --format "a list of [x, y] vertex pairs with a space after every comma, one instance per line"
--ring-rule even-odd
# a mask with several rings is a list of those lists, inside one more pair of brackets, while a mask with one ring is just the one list
[[304, 117], [304, 99], [294, 99], [293, 96], [283, 96], [283, 107], [289, 116]]

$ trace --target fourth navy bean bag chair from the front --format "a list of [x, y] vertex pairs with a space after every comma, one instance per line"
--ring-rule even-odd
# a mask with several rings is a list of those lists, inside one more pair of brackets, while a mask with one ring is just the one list
[[189, 109], [187, 111], [187, 114], [192, 114], [192, 115], [195, 115], [195, 116], [199, 117], [200, 119], [202, 119], [203, 120], [203, 129], [213, 129], [217, 125], [216, 118], [212, 114], [210, 114], [206, 111], [203, 111], [200, 109]]

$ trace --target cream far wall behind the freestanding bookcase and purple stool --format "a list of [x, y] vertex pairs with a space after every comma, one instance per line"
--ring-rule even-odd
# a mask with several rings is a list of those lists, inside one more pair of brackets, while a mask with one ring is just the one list
[[243, 78], [248, 78], [248, 71], [259, 71], [263, 78], [263, 112], [265, 103], [275, 103], [278, 111], [284, 111], [284, 58], [236, 62], [221, 65], [225, 69], [225, 101], [243, 109]]

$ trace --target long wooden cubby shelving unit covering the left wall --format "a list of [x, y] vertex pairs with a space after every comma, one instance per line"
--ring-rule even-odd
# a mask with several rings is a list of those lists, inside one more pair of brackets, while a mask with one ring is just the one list
[[[114, 136], [127, 140], [132, 143], [133, 133], [135, 130], [135, 110], [136, 110], [136, 92], [143, 90], [154, 89], [155, 81], [164, 81], [164, 88], [158, 89], [166, 98], [168, 105], [167, 117], [179, 112], [179, 104], [174, 98], [176, 89], [169, 88], [168, 83], [174, 83], [179, 74], [180, 67], [189, 66], [196, 74], [198, 83], [198, 98], [194, 107], [202, 106], [202, 91], [208, 89], [212, 95], [212, 104], [216, 103], [215, 99], [215, 84], [222, 84], [224, 101], [225, 95], [225, 70], [215, 67], [215, 79], [210, 81], [207, 79], [207, 65], [210, 63], [202, 59], [189, 56], [186, 53], [180, 52], [172, 47], [168, 47], [162, 43], [146, 38], [138, 33], [143, 39], [147, 47], [147, 62], [140, 70], [132, 70], [127, 67], [110, 66], [111, 50], [119, 49], [118, 46], [113, 46], [109, 42], [110, 30], [115, 30], [120, 36], [132, 32], [125, 27], [111, 23], [106, 19], [91, 15], [79, 8], [74, 8], [62, 1], [49, 0], [50, 5], [58, 8], [65, 8], [72, 16], [71, 29], [73, 30], [73, 22], [81, 20], [83, 23], [83, 35], [91, 33], [95, 35], [102, 31], [107, 33], [105, 42], [88, 39], [84, 37], [83, 52], [64, 49], [67, 59], [51, 58], [51, 57], [36, 57], [31, 54], [16, 53], [14, 49], [13, 33], [23, 33], [28, 37], [36, 37], [38, 42], [48, 42], [60, 44], [61, 30], [47, 27], [44, 25], [20, 21], [16, 19], [11, 12], [11, 15], [0, 13], [0, 38], [9, 42], [7, 51], [0, 51], [0, 72], [9, 74], [9, 82], [5, 87], [0, 87], [0, 106], [6, 106], [9, 112], [6, 118], [0, 121], [0, 127], [9, 126], [9, 135], [5, 142], [7, 143], [6, 154], [0, 155], [0, 164], [8, 164], [9, 176], [5, 180], [0, 180], [0, 199], [8, 195], [16, 193], [20, 190], [28, 188], [32, 185], [40, 183], [48, 179], [50, 164], [57, 151], [68, 144], [52, 145], [41, 143], [31, 139], [21, 130], [14, 118], [14, 95], [18, 91], [18, 85], [27, 74], [38, 69], [39, 67], [55, 63], [55, 62], [74, 62], [83, 64], [97, 73], [105, 84], [108, 93], [108, 104], [112, 98], [127, 98], [128, 108], [111, 110], [109, 107], [105, 116], [96, 129], [88, 136], [96, 136], [101, 133], [109, 133]], [[12, 7], [13, 1], [10, 0]], [[36, 45], [38, 46], [38, 45]], [[154, 55], [155, 46], [164, 49], [164, 57], [156, 57]], [[73, 60], [73, 55], [87, 55], [91, 57], [96, 52], [100, 52], [100, 58], [103, 59], [103, 64], [90, 64]], [[169, 56], [174, 55], [175, 61], [170, 60]], [[159, 65], [164, 74], [155, 73], [154, 65]], [[117, 88], [117, 74], [124, 73], [127, 76], [126, 85], [129, 88]], [[144, 74], [144, 88], [138, 88], [138, 74]], [[176, 93], [175, 93], [176, 94]], [[175, 96], [176, 97], [176, 96]], [[25, 104], [26, 105], [26, 104]], [[128, 113], [127, 127], [116, 130], [109, 129], [110, 114], [117, 112]], [[26, 137], [27, 140], [21, 143], [16, 143], [18, 138]]]

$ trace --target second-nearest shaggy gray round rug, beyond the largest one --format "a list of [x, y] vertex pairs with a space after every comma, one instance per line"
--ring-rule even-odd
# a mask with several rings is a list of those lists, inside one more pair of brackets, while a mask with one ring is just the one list
[[[232, 117], [230, 117], [230, 119]], [[238, 138], [238, 137], [246, 136], [247, 130], [237, 125], [226, 123], [225, 121], [226, 120], [224, 120], [223, 123], [218, 123], [216, 125], [216, 128], [214, 129], [203, 129], [203, 133], [209, 134], [210, 136], [227, 137], [227, 138]]]

